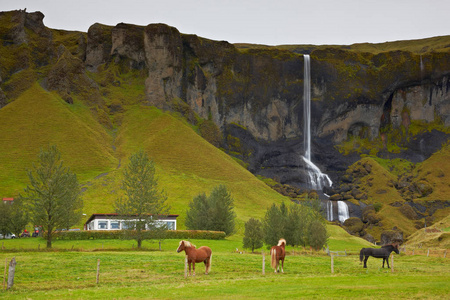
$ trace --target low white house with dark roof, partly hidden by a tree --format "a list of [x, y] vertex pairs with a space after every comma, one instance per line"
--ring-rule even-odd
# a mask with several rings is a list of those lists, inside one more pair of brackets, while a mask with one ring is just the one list
[[[169, 230], [177, 230], [178, 215], [160, 217], [159, 222], [165, 223]], [[84, 223], [84, 230], [121, 230], [125, 229], [125, 219], [118, 214], [92, 214]]]

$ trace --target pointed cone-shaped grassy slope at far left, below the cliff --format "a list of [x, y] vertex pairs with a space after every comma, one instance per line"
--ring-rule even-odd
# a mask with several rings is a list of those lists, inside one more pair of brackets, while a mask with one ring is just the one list
[[0, 110], [0, 196], [16, 196], [41, 148], [58, 146], [81, 181], [117, 165], [111, 138], [79, 105], [33, 85]]

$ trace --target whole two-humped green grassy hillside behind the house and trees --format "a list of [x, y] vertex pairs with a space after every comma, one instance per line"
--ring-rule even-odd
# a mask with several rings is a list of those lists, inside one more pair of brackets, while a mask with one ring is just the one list
[[153, 107], [131, 106], [117, 132], [109, 134], [82, 104], [67, 104], [35, 84], [0, 110], [0, 132], [0, 194], [17, 196], [28, 183], [26, 169], [40, 148], [55, 144], [83, 184], [85, 219], [92, 213], [113, 212], [122, 168], [139, 149], [155, 161], [171, 213], [180, 215], [179, 228], [184, 227], [187, 203], [219, 184], [225, 184], [235, 199], [240, 231], [244, 221], [262, 217], [273, 202], [289, 201], [190, 125]]

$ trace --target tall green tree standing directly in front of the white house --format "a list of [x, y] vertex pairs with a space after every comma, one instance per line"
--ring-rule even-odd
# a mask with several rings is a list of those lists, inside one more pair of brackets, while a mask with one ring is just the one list
[[[116, 201], [115, 209], [126, 219], [125, 237], [136, 240], [137, 247], [141, 248], [142, 241], [147, 239], [145, 230], [165, 230], [158, 219], [169, 212], [167, 196], [158, 189], [155, 165], [144, 151], [130, 157], [123, 174], [122, 190], [125, 197]], [[161, 235], [158, 234], [158, 238], [161, 239]]]

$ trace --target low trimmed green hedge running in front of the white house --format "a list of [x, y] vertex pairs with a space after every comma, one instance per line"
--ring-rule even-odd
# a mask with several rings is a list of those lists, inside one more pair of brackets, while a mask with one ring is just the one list
[[[159, 239], [200, 239], [200, 240], [223, 240], [225, 232], [206, 230], [166, 230], [163, 233], [145, 230], [145, 240]], [[125, 235], [123, 230], [80, 230], [80, 231], [57, 231], [53, 233], [54, 240], [99, 240], [99, 239], [133, 239], [133, 232]]]

